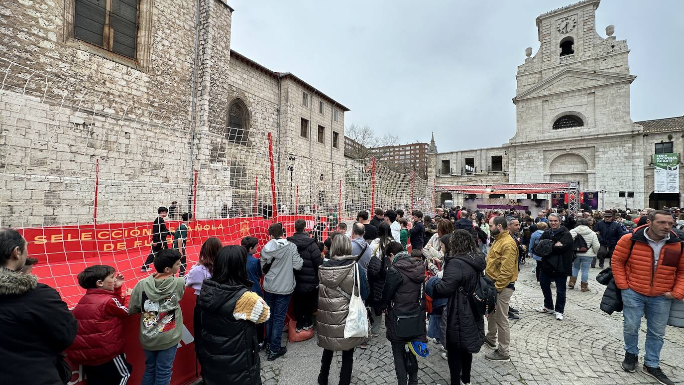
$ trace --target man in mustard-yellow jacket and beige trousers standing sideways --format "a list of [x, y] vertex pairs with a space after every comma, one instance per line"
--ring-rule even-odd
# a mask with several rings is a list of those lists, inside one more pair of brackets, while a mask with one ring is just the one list
[[[484, 344], [494, 349], [485, 354], [490, 361], [510, 361], [508, 347], [510, 345], [510, 325], [508, 324], [508, 308], [511, 295], [518, 279], [518, 245], [508, 232], [505, 217], [497, 216], [489, 220], [489, 230], [495, 242], [487, 254], [485, 274], [494, 281], [499, 292], [497, 308], [487, 318], [488, 332]], [[497, 347], [497, 341], [499, 346]]]

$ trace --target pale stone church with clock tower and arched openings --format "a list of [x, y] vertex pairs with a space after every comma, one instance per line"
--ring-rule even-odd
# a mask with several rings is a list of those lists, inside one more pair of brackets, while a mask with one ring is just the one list
[[[614, 36], [613, 25], [605, 38], [596, 32], [599, 3], [584, 0], [536, 18], [540, 46], [534, 55], [525, 49], [516, 75], [515, 135], [473, 150], [436, 152], [431, 143], [428, 177], [436, 185], [579, 181], [582, 191], [604, 191], [605, 208], [625, 207], [619, 191], [633, 191], [630, 208], [681, 206], [679, 194], [653, 194], [652, 159], [665, 147], [684, 151], [675, 139], [684, 137], [684, 119], [632, 122], [636, 77], [627, 41]], [[451, 198], [438, 194], [437, 201]]]

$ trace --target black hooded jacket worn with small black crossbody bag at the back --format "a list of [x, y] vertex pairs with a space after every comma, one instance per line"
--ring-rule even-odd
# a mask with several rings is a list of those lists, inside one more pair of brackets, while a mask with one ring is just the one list
[[[391, 342], [422, 341], [425, 337], [425, 265], [423, 261], [413, 258], [408, 252], [400, 252], [395, 256], [395, 262], [387, 271], [384, 289], [382, 291], [381, 308], [386, 308], [385, 325], [387, 339]], [[422, 297], [421, 297], [421, 287]], [[420, 305], [419, 305], [420, 304]], [[415, 336], [402, 338], [397, 336], [397, 313], [410, 313], [420, 306], [421, 328], [416, 330]]]

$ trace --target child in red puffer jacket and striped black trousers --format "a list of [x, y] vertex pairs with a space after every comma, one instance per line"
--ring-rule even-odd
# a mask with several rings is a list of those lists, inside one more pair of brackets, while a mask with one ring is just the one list
[[67, 353], [73, 363], [83, 365], [88, 385], [126, 384], [133, 369], [123, 355], [122, 322], [129, 316], [126, 306], [131, 289], [124, 299], [124, 276], [114, 273], [114, 267], [93, 265], [78, 276], [86, 295], [72, 312], [79, 332]]

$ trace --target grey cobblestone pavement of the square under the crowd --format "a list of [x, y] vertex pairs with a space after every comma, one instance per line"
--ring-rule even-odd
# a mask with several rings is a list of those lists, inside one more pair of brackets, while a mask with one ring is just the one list
[[[568, 289], [565, 319], [536, 313], [543, 296], [530, 265], [523, 265], [512, 305], [520, 309], [521, 319], [511, 321], [511, 362], [490, 362], [482, 351], [473, 357], [473, 384], [657, 384], [640, 373], [622, 371], [622, 313], [606, 315], [599, 309], [603, 285], [590, 279], [590, 291]], [[592, 269], [592, 277], [599, 269]], [[552, 288], [553, 289], [553, 288]], [[555, 291], [554, 291], [555, 297]], [[384, 321], [383, 321], [384, 322]], [[646, 321], [640, 333], [640, 366], [643, 364]], [[285, 334], [284, 339], [287, 339]], [[428, 343], [430, 356], [419, 358], [419, 384], [448, 385], [449, 367], [440, 350]], [[261, 377], [265, 385], [316, 384], [322, 349], [316, 338], [287, 344], [287, 354], [269, 362], [261, 354]], [[330, 384], [337, 384], [341, 354], [330, 369]], [[676, 383], [684, 383], [684, 329], [668, 326], [661, 352], [661, 368]], [[333, 380], [334, 379], [334, 380]], [[352, 384], [396, 384], [394, 360], [384, 326], [379, 338], [369, 341], [368, 349], [354, 351]]]

